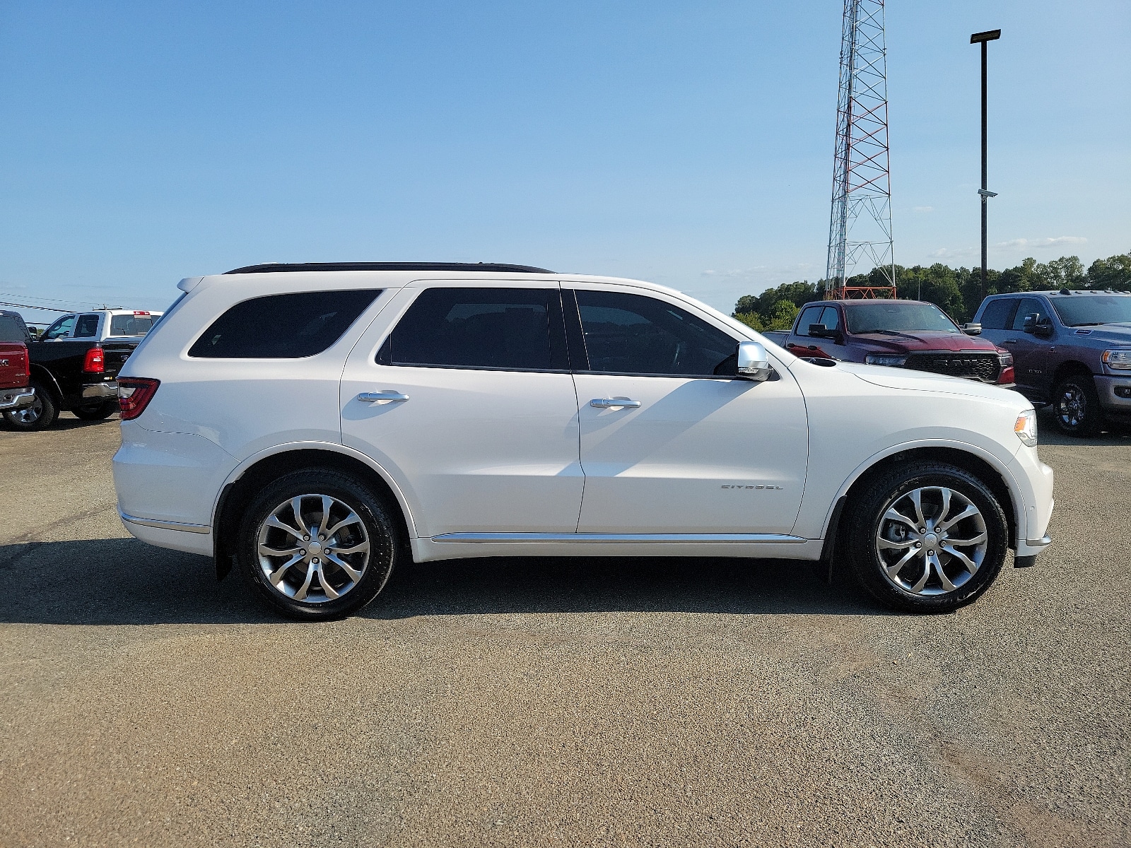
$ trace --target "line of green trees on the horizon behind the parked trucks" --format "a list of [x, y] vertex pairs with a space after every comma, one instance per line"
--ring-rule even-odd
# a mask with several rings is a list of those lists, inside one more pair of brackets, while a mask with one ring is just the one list
[[[787, 330], [801, 306], [823, 300], [826, 282], [783, 283], [759, 295], [745, 294], [734, 304], [734, 317], [756, 330]], [[845, 283], [849, 286], [888, 285], [878, 268], [849, 277]], [[1013, 268], [986, 271], [986, 294], [1060, 288], [1131, 292], [1131, 251], [1097, 259], [1088, 268], [1079, 257], [1061, 257], [1048, 262], [1030, 257]], [[941, 262], [910, 268], [897, 265], [896, 292], [903, 298], [930, 301], [955, 321], [964, 323], [974, 318], [982, 304], [982, 269], [950, 268]]]

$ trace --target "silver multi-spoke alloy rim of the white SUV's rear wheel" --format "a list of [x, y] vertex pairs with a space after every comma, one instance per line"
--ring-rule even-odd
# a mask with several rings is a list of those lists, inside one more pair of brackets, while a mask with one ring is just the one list
[[351, 591], [369, 568], [369, 531], [337, 497], [304, 494], [284, 501], [260, 523], [259, 568], [280, 595], [325, 604]]

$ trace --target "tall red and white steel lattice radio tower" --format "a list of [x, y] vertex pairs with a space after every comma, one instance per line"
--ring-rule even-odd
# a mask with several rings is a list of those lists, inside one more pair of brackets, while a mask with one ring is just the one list
[[[883, 0], [845, 0], [837, 96], [837, 150], [824, 296], [895, 297], [891, 173], [888, 168], [888, 53]], [[846, 286], [857, 262], [881, 285]]]

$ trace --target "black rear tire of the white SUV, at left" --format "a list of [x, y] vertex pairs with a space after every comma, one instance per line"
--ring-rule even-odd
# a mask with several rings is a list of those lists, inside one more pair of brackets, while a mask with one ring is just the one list
[[[330, 518], [322, 519], [321, 496], [334, 501]], [[300, 500], [302, 521], [295, 521], [294, 510], [288, 507], [293, 499]], [[295, 533], [279, 529], [279, 525], [266, 525], [273, 513], [282, 523], [294, 530], [313, 530], [311, 536], [297, 537]], [[346, 513], [351, 513], [347, 516]], [[356, 520], [349, 521], [353, 517]], [[314, 520], [321, 527], [334, 529], [345, 525], [338, 534], [319, 542]], [[260, 538], [271, 550], [295, 545], [304, 554], [287, 556], [260, 556]], [[303, 621], [327, 621], [340, 618], [357, 612], [380, 594], [388, 582], [402, 547], [398, 539], [398, 523], [381, 497], [365, 483], [342, 471], [311, 468], [291, 471], [266, 485], [251, 501], [244, 512], [239, 529], [236, 557], [249, 585], [258, 595], [280, 613]], [[292, 540], [292, 537], [295, 537]], [[327, 554], [322, 545], [329, 542], [338, 546]], [[354, 546], [368, 544], [368, 559], [362, 566], [361, 554], [342, 553]], [[319, 548], [316, 551], [314, 548]], [[337, 555], [338, 559], [334, 559]], [[286, 568], [287, 560], [297, 560]], [[331, 562], [333, 560], [333, 562]], [[334, 563], [346, 563], [361, 571], [356, 580], [346, 569]], [[270, 570], [277, 578], [279, 588], [271, 582]], [[305, 582], [309, 589], [303, 590]], [[329, 583], [329, 589], [326, 585]], [[339, 597], [334, 591], [342, 590]], [[296, 597], [305, 595], [305, 597]]]

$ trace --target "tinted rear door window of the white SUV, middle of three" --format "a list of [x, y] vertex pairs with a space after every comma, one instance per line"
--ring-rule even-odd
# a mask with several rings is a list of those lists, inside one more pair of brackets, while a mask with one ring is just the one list
[[385, 365], [566, 371], [556, 288], [429, 288], [381, 345]]

